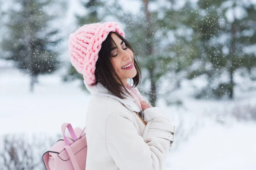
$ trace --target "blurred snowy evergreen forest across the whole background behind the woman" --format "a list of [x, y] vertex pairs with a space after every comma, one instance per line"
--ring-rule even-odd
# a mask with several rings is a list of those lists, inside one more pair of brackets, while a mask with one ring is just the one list
[[[75, 2], [78, 8], [68, 12]], [[116, 21], [135, 50], [143, 77], [138, 88], [151, 105], [156, 106], [160, 98], [166, 105], [182, 102], [173, 93], [183, 79], [201, 79], [194, 86], [195, 99], [233, 100], [237, 91], [256, 91], [255, 0], [123, 4], [123, 0], [0, 0], [0, 59], [13, 61], [29, 75], [31, 92], [40, 83], [39, 75], [60, 69], [65, 70], [63, 82], [80, 79], [84, 87], [67, 54], [69, 34], [84, 24]], [[8, 140], [22, 145], [17, 150], [35, 164], [23, 164], [24, 158], [15, 151], [19, 145]], [[37, 160], [29, 157], [34, 153], [27, 153], [32, 146], [18, 141], [5, 136], [6, 152], [0, 153], [6, 158], [3, 170], [39, 169]]]

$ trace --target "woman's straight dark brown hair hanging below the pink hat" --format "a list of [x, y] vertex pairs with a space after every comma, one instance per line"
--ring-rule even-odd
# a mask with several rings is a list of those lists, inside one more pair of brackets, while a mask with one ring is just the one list
[[[132, 49], [131, 44], [127, 40], [125, 40], [124, 37], [122, 37], [120, 34], [116, 32], [110, 32], [106, 40], [102, 42], [102, 47], [99, 51], [99, 58], [96, 62], [96, 70], [95, 70], [95, 77], [96, 77], [95, 84], [100, 82], [113, 95], [121, 99], [125, 99], [127, 96], [125, 94], [125, 91], [127, 94], [129, 94], [129, 92], [126, 90], [125, 85], [122, 83], [121, 79], [119, 78], [118, 74], [116, 73], [111, 63], [111, 48], [117, 46], [114, 40], [112, 39], [111, 34], [116, 34], [121, 40], [123, 40], [125, 42], [126, 47], [129, 48], [134, 54], [134, 50]], [[136, 61], [135, 59], [137, 60], [137, 57], [134, 54], [134, 66], [135, 66], [135, 69], [137, 70], [137, 74], [135, 77], [132, 78], [133, 79], [132, 87], [137, 87], [137, 85], [139, 85], [141, 82], [140, 65], [139, 65], [139, 62]], [[116, 81], [115, 77], [120, 81], [121, 84], [119, 84]]]

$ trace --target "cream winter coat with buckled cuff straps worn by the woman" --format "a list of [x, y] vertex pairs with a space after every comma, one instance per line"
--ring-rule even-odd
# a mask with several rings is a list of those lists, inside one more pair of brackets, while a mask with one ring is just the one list
[[[137, 88], [127, 88], [141, 99]], [[120, 99], [100, 83], [87, 89], [91, 100], [85, 128], [86, 170], [163, 170], [174, 132], [168, 111], [145, 109], [144, 125], [133, 97]]]

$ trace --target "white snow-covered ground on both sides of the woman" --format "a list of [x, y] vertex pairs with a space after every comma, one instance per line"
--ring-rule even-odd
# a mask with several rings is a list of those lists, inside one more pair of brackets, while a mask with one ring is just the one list
[[[58, 73], [38, 81], [30, 94], [28, 76], [0, 70], [0, 139], [4, 134], [55, 135], [63, 122], [84, 127], [90, 95], [80, 82], [64, 83]], [[238, 103], [255, 104], [255, 96], [233, 102], [184, 97], [182, 107], [166, 107], [177, 127], [166, 170], [256, 170], [256, 122], [222, 113]]]

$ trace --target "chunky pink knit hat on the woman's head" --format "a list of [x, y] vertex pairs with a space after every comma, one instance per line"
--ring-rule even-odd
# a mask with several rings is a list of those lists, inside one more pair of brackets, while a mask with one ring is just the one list
[[72, 65], [83, 74], [84, 84], [92, 85], [96, 82], [95, 69], [102, 42], [109, 32], [116, 32], [125, 37], [124, 31], [116, 22], [92, 23], [81, 26], [70, 34], [68, 52]]

